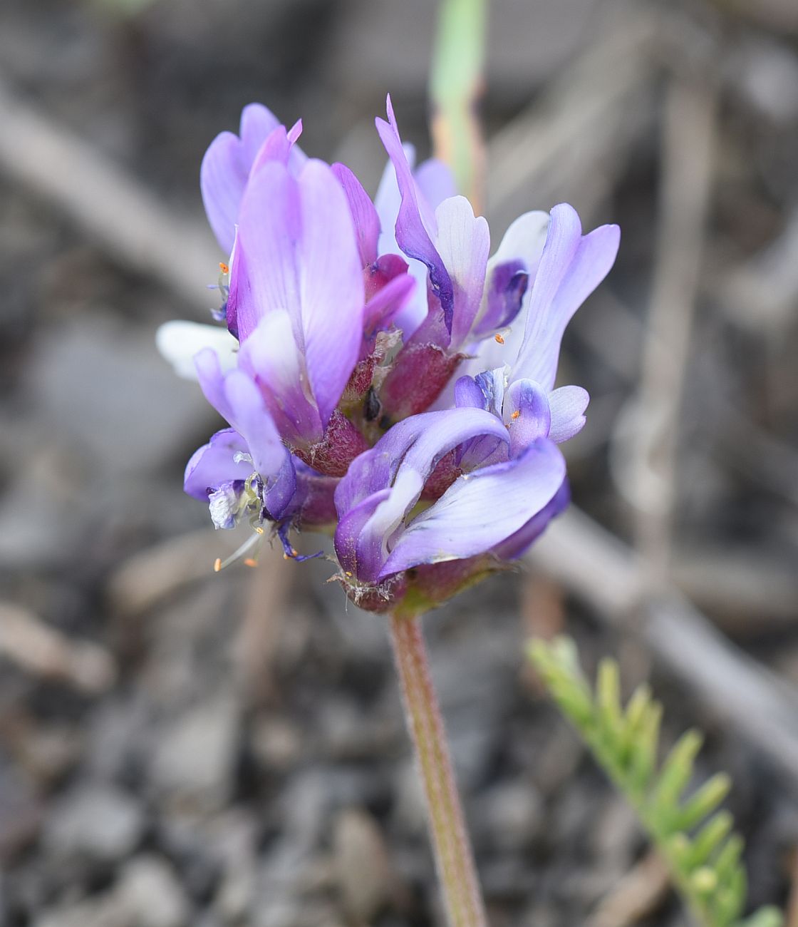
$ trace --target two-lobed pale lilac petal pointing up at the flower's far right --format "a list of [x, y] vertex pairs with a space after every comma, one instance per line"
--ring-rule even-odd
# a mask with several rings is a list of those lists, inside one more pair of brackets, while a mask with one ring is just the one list
[[555, 206], [531, 289], [524, 341], [513, 378], [523, 376], [546, 389], [554, 387], [566, 326], [609, 273], [619, 238], [617, 225], [602, 225], [582, 237], [576, 210], [567, 204]]

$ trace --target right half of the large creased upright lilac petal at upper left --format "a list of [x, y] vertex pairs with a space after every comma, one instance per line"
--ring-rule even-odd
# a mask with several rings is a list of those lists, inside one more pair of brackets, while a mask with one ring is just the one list
[[309, 160], [300, 185], [302, 236], [297, 263], [305, 358], [326, 426], [360, 352], [363, 273], [349, 205], [329, 165]]

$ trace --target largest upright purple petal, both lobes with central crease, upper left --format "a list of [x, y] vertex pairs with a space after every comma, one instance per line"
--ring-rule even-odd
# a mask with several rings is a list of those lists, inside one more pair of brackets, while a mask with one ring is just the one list
[[242, 342], [261, 318], [288, 311], [322, 427], [355, 367], [364, 301], [352, 217], [330, 167], [309, 160], [294, 178], [265, 164], [243, 199], [229, 305]]

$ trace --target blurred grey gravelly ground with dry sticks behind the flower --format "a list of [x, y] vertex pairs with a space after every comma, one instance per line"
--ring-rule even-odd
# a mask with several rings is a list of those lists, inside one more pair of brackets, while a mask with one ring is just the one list
[[[0, 923], [439, 924], [379, 617], [324, 561], [212, 573], [218, 427], [156, 354], [223, 256], [206, 146], [259, 100], [372, 192], [429, 153], [431, 0], [0, 6]], [[486, 213], [619, 222], [569, 329], [577, 508], [427, 621], [493, 927], [685, 923], [524, 666], [567, 631], [708, 733], [752, 904], [798, 867], [798, 6], [493, 0]], [[315, 543], [307, 539], [305, 544]], [[792, 902], [791, 927], [798, 923]]]

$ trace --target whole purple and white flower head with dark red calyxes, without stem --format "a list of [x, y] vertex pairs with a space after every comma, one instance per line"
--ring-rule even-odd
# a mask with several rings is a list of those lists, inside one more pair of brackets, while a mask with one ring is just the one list
[[[169, 323], [159, 345], [230, 427], [185, 489], [217, 527], [334, 532], [339, 579], [374, 610], [430, 605], [521, 555], [567, 505], [557, 444], [588, 394], [555, 389], [560, 342], [615, 260], [565, 204], [529, 212], [490, 256], [443, 164], [414, 170], [390, 99], [372, 202], [308, 159], [268, 111], [208, 148], [201, 185], [227, 324]], [[249, 542], [248, 542], [249, 543]]]

